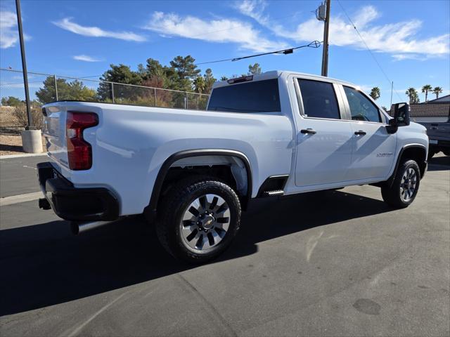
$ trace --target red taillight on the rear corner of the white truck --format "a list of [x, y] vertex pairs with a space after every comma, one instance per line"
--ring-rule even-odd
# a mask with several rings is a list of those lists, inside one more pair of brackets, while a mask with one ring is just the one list
[[68, 159], [71, 170], [89, 170], [92, 166], [91, 144], [83, 139], [83, 130], [98, 124], [92, 112], [68, 112], [65, 132], [68, 141]]

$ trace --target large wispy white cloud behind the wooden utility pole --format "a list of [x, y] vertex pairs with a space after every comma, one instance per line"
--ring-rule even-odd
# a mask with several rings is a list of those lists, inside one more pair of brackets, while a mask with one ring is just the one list
[[[296, 29], [288, 30], [276, 22], [272, 22], [269, 16], [264, 15], [263, 11], [266, 7], [264, 0], [245, 0], [236, 4], [235, 7], [240, 13], [257, 20], [260, 25], [271, 29], [279, 37], [297, 42], [323, 39], [323, 22], [316, 18], [300, 23]], [[407, 58], [423, 60], [423, 58], [449, 54], [450, 34], [417, 39], [422, 28], [420, 20], [373, 25], [374, 20], [378, 18], [380, 18], [380, 13], [373, 6], [360, 8], [352, 18], [364, 41], [373, 51], [390, 53], [395, 60]], [[357, 49], [366, 48], [354, 27], [347, 22], [347, 18], [340, 16], [331, 19], [330, 44]]]

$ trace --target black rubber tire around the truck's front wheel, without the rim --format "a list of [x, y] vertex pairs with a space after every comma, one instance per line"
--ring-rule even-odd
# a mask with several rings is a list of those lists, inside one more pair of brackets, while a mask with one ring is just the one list
[[[405, 198], [401, 195], [401, 180], [404, 178], [406, 171], [412, 169], [416, 176], [416, 186], [412, 195], [409, 198]], [[410, 171], [411, 172], [411, 171]], [[403, 161], [399, 168], [397, 169], [397, 173], [395, 174], [394, 181], [391, 186], [383, 186], [381, 187], [381, 195], [383, 200], [389, 204], [390, 206], [396, 209], [404, 209], [408, 207], [416, 198], [417, 192], [419, 190], [420, 185], [420, 169], [416, 161], [412, 159], [406, 159]]]

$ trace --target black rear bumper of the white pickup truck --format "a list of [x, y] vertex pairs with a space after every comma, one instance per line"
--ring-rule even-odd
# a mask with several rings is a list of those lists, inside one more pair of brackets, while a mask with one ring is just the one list
[[[37, 176], [45, 199], [60, 218], [71, 221], [110, 221], [119, 217], [119, 201], [107, 188], [74, 187], [48, 161], [37, 164]], [[39, 202], [39, 206], [41, 204]]]

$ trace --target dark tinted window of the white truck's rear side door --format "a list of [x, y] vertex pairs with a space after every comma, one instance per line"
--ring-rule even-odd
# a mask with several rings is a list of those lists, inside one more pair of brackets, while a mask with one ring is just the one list
[[298, 79], [305, 117], [340, 119], [338, 100], [333, 84]]

